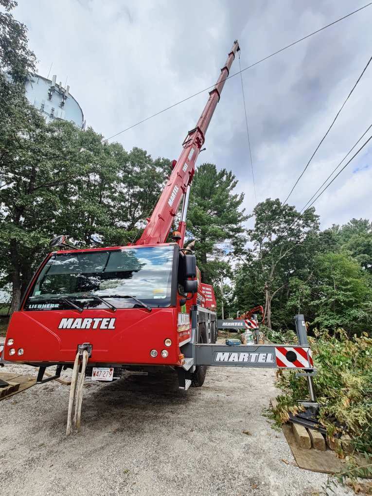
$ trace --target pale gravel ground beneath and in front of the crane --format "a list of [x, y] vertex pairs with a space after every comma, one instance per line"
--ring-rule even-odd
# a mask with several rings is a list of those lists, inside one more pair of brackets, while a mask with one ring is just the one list
[[261, 415], [276, 394], [274, 372], [243, 368], [210, 368], [186, 392], [173, 372], [86, 383], [67, 438], [69, 387], [36, 385], [0, 402], [1, 495], [321, 494], [327, 476], [298, 468]]

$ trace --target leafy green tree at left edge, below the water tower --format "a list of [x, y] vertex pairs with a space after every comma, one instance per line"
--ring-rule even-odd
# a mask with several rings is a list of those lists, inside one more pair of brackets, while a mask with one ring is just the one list
[[33, 262], [45, 254], [62, 210], [58, 188], [78, 173], [73, 143], [61, 143], [35, 109], [25, 105], [14, 123], [13, 138], [0, 143], [0, 256], [12, 283], [11, 310], [19, 305]]

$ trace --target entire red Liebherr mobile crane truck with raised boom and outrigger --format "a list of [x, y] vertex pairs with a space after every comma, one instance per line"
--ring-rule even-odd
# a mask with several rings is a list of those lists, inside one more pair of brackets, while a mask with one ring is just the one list
[[[37, 366], [41, 383], [59, 377], [86, 350], [86, 376], [92, 380], [168, 366], [178, 372], [181, 389], [201, 386], [208, 365], [290, 367], [305, 370], [314, 403], [303, 315], [296, 316], [299, 346], [215, 344], [213, 289], [201, 283], [195, 255], [184, 248], [195, 161], [239, 50], [235, 41], [140, 239], [125, 247], [87, 249], [69, 247], [63, 236], [52, 240], [51, 246], [62, 249], [47, 255], [12, 314], [0, 363]], [[182, 198], [178, 231], [166, 243]], [[52, 365], [56, 375], [43, 378]]]

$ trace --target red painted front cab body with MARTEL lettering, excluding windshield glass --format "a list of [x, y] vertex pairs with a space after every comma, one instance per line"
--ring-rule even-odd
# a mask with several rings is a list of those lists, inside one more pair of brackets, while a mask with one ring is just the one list
[[[146, 246], [151, 247], [179, 249], [175, 243]], [[171, 301], [169, 307], [153, 308], [151, 312], [144, 308], [118, 308], [114, 311], [104, 304], [99, 308], [88, 308], [81, 312], [73, 308], [60, 310], [57, 302], [34, 305], [31, 303], [35, 308], [25, 308], [40, 273], [52, 256], [122, 251], [125, 248], [61, 250], [53, 255], [49, 254], [35, 273], [20, 309], [11, 316], [5, 343], [10, 339], [13, 344], [5, 346], [4, 359], [35, 364], [73, 362], [78, 343], [93, 343], [91, 361], [95, 363], [182, 365], [180, 347], [190, 340], [189, 309], [197, 303], [200, 303], [200, 307], [205, 306], [204, 295], [200, 293], [199, 300], [195, 293], [186, 301], [185, 308], [181, 309], [180, 300], [183, 296], [177, 288], [172, 288], [171, 292], [174, 295], [171, 300], [174, 301]], [[174, 257], [177, 254], [176, 252]], [[174, 264], [176, 262], [177, 260]], [[164, 345], [166, 339], [172, 341], [171, 346]], [[10, 349], [21, 349], [23, 353], [9, 355]], [[156, 357], [150, 356], [153, 349], [158, 352]], [[163, 349], [168, 351], [166, 358], [161, 355]]]

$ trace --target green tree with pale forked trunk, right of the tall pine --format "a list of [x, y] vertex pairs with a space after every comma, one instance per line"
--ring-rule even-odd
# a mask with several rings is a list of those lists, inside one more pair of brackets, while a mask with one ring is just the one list
[[284, 323], [278, 310], [285, 308], [291, 277], [297, 274], [303, 279], [311, 273], [310, 261], [318, 245], [318, 216], [311, 208], [299, 218], [293, 206], [270, 198], [256, 205], [253, 216], [254, 228], [248, 230], [253, 247], [237, 274], [238, 303], [242, 310], [249, 308], [253, 298], [254, 305], [264, 303], [267, 325], [272, 328], [274, 302], [277, 322]]

